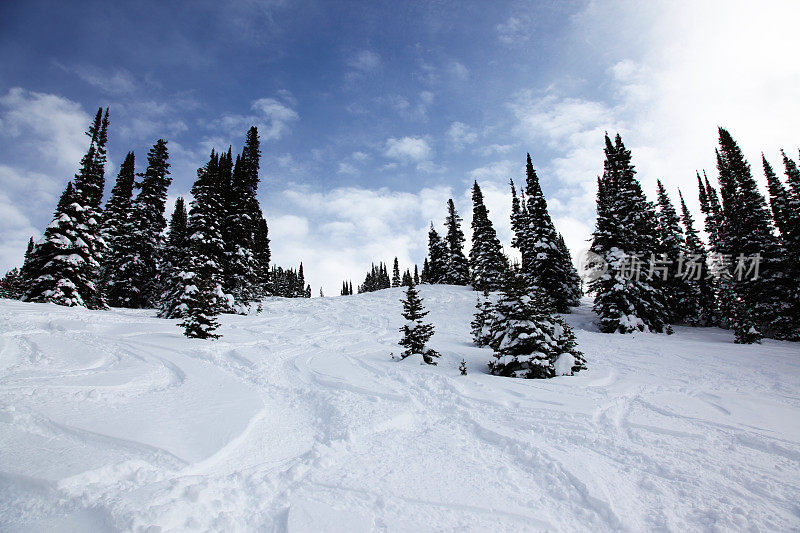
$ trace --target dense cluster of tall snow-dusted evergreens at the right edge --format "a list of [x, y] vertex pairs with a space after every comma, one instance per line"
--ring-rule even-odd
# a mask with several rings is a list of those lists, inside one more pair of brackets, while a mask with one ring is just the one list
[[[762, 156], [768, 206], [740, 148], [719, 128], [718, 189], [705, 172], [697, 175], [708, 234], [704, 244], [682, 193], [680, 215], [660, 181], [657, 201], [648, 201], [621, 137], [612, 142], [606, 135], [605, 144], [591, 249], [607, 270], [589, 285], [601, 331], [716, 325], [732, 329], [737, 343], [763, 336], [800, 340], [795, 162], [783, 153], [787, 186]], [[648, 272], [632, 275], [632, 262], [641, 258], [649, 258]]]

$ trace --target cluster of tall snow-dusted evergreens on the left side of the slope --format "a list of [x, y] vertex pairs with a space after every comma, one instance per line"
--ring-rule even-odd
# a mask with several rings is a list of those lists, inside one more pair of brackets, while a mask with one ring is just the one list
[[31, 239], [22, 268], [0, 282], [0, 295], [89, 309], [158, 308], [161, 317], [182, 318], [188, 336], [203, 338], [214, 336], [214, 316], [245, 312], [263, 296], [310, 297], [302, 264], [270, 269], [255, 127], [235, 160], [230, 148], [212, 150], [197, 171], [190, 210], [179, 198], [165, 235], [167, 142], [155, 143], [139, 174], [127, 154], [102, 208], [108, 124], [108, 109], [99, 109], [53, 221], [38, 243]]

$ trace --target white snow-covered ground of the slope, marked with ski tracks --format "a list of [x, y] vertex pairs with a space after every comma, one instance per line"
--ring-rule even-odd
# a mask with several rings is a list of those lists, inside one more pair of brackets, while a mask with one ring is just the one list
[[[800, 346], [606, 335], [589, 370], [490, 376], [476, 293], [268, 300], [218, 341], [151, 311], [0, 300], [0, 530], [800, 528]], [[457, 370], [461, 358], [469, 375]]]

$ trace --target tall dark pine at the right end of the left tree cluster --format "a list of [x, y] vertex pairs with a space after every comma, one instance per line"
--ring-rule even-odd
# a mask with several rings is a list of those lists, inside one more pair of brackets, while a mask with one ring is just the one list
[[[231, 177], [226, 221], [228, 267], [225, 286], [234, 297], [234, 308], [244, 312], [259, 295], [259, 264], [257, 233], [263, 220], [256, 194], [261, 150], [258, 129], [247, 132], [242, 155], [236, 158]], [[258, 243], [262, 244], [263, 243]], [[268, 264], [267, 264], [268, 266]]]

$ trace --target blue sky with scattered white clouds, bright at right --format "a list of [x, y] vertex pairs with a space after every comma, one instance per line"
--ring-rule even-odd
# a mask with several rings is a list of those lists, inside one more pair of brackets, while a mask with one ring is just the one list
[[314, 295], [372, 262], [421, 265], [448, 198], [469, 238], [475, 180], [513, 255], [508, 182], [528, 152], [577, 254], [606, 131], [651, 198], [661, 179], [700, 219], [717, 126], [762, 185], [762, 152], [798, 155], [798, 20], [796, 0], [0, 0], [0, 272], [50, 222], [100, 106], [106, 194], [163, 138], [168, 211], [212, 148], [258, 126], [273, 260], [302, 261]]

